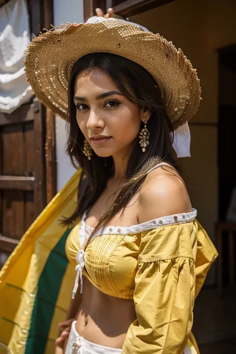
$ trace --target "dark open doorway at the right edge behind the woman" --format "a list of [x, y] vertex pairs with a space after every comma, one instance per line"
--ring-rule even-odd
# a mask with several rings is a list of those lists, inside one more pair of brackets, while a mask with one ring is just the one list
[[[236, 223], [236, 44], [219, 50], [218, 171], [218, 220]], [[230, 280], [229, 246], [226, 232], [222, 245], [225, 284]]]

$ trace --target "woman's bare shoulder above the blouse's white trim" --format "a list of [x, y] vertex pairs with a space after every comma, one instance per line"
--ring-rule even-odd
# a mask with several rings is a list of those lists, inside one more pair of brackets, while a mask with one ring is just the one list
[[187, 188], [177, 172], [158, 167], [147, 175], [139, 192], [139, 223], [191, 211]]

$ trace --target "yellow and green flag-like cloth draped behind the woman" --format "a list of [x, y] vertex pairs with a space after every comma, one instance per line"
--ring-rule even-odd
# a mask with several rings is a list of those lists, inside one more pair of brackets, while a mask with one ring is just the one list
[[80, 174], [43, 210], [0, 271], [0, 343], [12, 354], [55, 351], [75, 279], [65, 254], [70, 229], [61, 220], [75, 210]]

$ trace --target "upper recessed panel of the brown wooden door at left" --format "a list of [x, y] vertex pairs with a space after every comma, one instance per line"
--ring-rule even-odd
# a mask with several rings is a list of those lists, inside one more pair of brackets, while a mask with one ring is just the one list
[[23, 175], [22, 124], [2, 126], [2, 174]]

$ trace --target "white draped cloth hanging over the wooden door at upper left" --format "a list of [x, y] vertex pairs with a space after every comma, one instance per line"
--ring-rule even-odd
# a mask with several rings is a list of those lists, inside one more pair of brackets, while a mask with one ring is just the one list
[[22, 63], [29, 42], [26, 1], [11, 0], [0, 7], [0, 112], [12, 113], [32, 96]]

